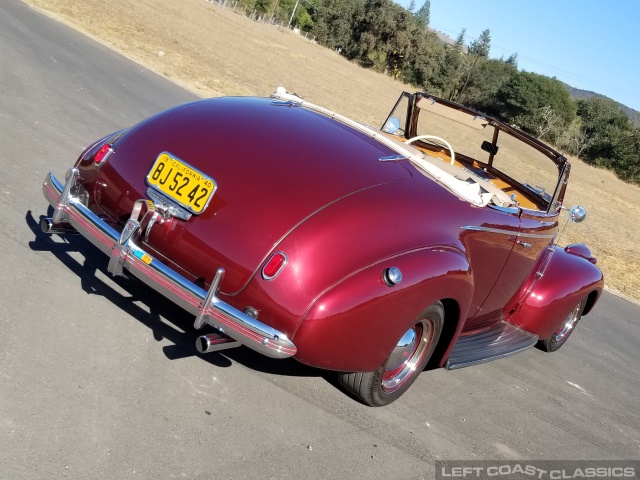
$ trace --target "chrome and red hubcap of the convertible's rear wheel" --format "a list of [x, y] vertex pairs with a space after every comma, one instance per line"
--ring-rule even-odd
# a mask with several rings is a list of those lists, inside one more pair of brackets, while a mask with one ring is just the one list
[[411, 377], [429, 349], [432, 334], [433, 327], [429, 319], [421, 320], [405, 332], [382, 372], [383, 390], [397, 390]]

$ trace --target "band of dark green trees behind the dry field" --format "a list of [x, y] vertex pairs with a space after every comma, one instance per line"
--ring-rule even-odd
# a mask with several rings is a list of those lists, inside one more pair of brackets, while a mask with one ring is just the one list
[[[640, 127], [603, 97], [575, 101], [555, 78], [518, 70], [517, 55], [491, 59], [491, 34], [451, 43], [429, 29], [429, 0], [238, 0], [314, 35], [359, 65], [496, 116], [585, 162], [640, 184]], [[297, 5], [297, 7], [296, 7]], [[291, 16], [294, 12], [295, 15]]]

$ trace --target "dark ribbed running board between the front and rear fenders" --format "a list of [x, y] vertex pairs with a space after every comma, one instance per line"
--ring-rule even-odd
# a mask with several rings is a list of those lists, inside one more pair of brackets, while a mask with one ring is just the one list
[[533, 347], [538, 336], [504, 320], [489, 330], [459, 337], [444, 364], [447, 370], [508, 357]]

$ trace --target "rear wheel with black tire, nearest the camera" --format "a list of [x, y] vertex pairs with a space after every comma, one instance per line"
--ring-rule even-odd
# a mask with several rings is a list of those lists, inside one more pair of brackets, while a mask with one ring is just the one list
[[440, 302], [434, 303], [417, 317], [377, 370], [338, 373], [340, 384], [372, 407], [396, 401], [424, 370], [438, 344], [443, 323], [444, 307]]

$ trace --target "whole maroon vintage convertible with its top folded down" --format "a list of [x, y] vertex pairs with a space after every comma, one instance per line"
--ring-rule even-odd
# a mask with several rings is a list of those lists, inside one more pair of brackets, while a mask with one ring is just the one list
[[557, 350], [593, 308], [595, 258], [557, 244], [569, 169], [427, 94], [404, 93], [377, 130], [278, 88], [99, 140], [47, 176], [41, 227], [82, 234], [113, 275], [208, 325], [200, 352], [294, 357], [379, 406], [427, 364]]

